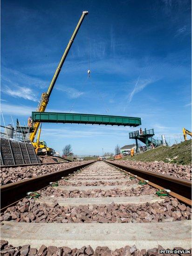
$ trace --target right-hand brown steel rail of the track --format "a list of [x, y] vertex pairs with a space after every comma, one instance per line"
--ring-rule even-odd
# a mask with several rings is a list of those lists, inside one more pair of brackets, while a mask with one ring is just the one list
[[149, 180], [148, 184], [158, 189], [170, 189], [170, 195], [177, 198], [188, 205], [192, 205], [192, 182], [180, 178], [175, 178], [170, 175], [154, 173], [133, 167], [124, 166], [121, 164], [113, 163], [113, 161], [106, 160], [106, 163], [116, 166], [123, 171], [130, 172], [137, 175], [139, 180]]

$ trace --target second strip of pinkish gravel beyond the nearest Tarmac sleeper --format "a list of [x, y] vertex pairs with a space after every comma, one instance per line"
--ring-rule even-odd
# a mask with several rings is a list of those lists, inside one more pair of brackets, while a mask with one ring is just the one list
[[65, 198], [82, 198], [82, 197], [126, 197], [126, 196], [139, 196], [139, 195], [148, 195], [155, 194], [157, 191], [156, 188], [145, 185], [143, 187], [131, 188], [127, 190], [121, 190], [119, 188], [110, 189], [108, 191], [103, 191], [102, 189], [94, 189], [81, 191], [78, 189], [74, 189], [71, 191], [54, 189], [52, 187], [47, 187], [43, 191], [41, 190], [41, 195], [46, 196], [54, 196], [55, 198], [58, 196], [62, 196]]

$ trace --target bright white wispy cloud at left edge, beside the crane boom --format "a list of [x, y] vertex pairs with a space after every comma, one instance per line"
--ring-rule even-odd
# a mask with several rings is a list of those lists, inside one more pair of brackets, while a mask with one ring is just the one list
[[34, 91], [27, 87], [15, 86], [15, 88], [12, 89], [12, 88], [9, 88], [8, 86], [6, 86], [5, 88], [2, 88], [1, 91], [7, 95], [12, 96], [12, 97], [24, 98], [24, 99], [32, 100], [32, 101], [38, 101]]

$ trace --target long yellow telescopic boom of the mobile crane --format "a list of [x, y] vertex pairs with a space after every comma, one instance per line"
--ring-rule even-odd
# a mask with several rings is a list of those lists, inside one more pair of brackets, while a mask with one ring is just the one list
[[[57, 77], [59, 76], [59, 73], [60, 73], [60, 71], [62, 69], [62, 65], [63, 65], [63, 63], [64, 63], [64, 61], [65, 61], [65, 59], [66, 59], [66, 57], [67, 57], [67, 55], [69, 53], [69, 50], [70, 50], [70, 48], [71, 48], [71, 46], [72, 46], [72, 44], [74, 42], [75, 36], [77, 35], [77, 32], [78, 32], [79, 28], [81, 27], [82, 21], [84, 20], [84, 18], [85, 18], [85, 16], [87, 14], [88, 14], [88, 11], [82, 12], [82, 16], [81, 16], [79, 22], [77, 23], [77, 26], [76, 26], [76, 28], [75, 28], [75, 30], [73, 32], [73, 35], [71, 36], [71, 38], [69, 40], [69, 43], [68, 43], [68, 45], [67, 45], [67, 47], [66, 47], [66, 49], [64, 51], [64, 54], [62, 55], [61, 61], [59, 62], [59, 65], [58, 65], [58, 67], [57, 67], [57, 69], [55, 71], [55, 74], [54, 74], [54, 76], [53, 76], [53, 78], [51, 80], [51, 83], [50, 83], [50, 85], [48, 87], [48, 91], [47, 92], [43, 92], [42, 95], [41, 95], [41, 100], [40, 100], [40, 103], [39, 103], [39, 105], [37, 107], [37, 111], [38, 112], [44, 112], [45, 111], [45, 109], [47, 107], [47, 104], [48, 104], [49, 97], [50, 97], [51, 92], [52, 92], [52, 90], [54, 88], [54, 85], [56, 83]], [[40, 122], [35, 123], [34, 124], [33, 132], [31, 132], [29, 134], [29, 139], [30, 139], [31, 142], [34, 141], [34, 138], [35, 138], [35, 135], [36, 135], [37, 130], [39, 128], [39, 125], [40, 125]]]

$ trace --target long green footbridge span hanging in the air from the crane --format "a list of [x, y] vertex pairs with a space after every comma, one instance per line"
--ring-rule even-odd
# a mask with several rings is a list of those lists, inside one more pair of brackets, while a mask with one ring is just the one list
[[133, 127], [141, 125], [141, 118], [55, 112], [32, 112], [32, 120], [33, 122], [41, 123], [121, 125]]

